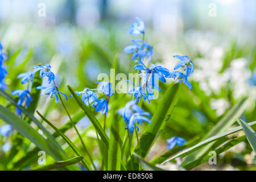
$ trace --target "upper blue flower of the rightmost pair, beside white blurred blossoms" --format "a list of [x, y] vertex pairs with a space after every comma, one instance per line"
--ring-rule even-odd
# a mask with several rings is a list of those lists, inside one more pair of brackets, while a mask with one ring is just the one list
[[174, 70], [179, 69], [180, 67], [183, 67], [185, 71], [185, 76], [187, 77], [191, 76], [191, 74], [194, 71], [194, 65], [192, 63], [192, 60], [186, 55], [184, 56], [176, 55], [174, 56], [174, 58], [180, 60], [179, 63], [177, 63], [176, 66], [174, 67]]

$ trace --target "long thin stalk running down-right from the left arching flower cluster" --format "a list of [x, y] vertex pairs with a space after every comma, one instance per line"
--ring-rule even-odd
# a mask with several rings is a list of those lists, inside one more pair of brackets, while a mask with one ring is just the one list
[[[54, 81], [53, 81], [53, 84], [54, 84], [56, 90], [59, 91], [59, 89], [57, 88], [57, 86], [56, 86], [56, 84], [55, 84]], [[90, 155], [88, 149], [86, 148], [85, 143], [84, 143], [84, 141], [82, 140], [82, 137], [81, 137], [81, 135], [79, 134], [79, 131], [77, 130], [76, 125], [75, 125], [75, 123], [73, 122], [73, 119], [71, 118], [71, 115], [69, 114], [68, 109], [67, 109], [67, 107], [65, 106], [65, 104], [64, 104], [64, 102], [63, 102], [63, 100], [62, 100], [62, 98], [61, 98], [61, 96], [60, 96], [60, 93], [57, 92], [57, 95], [59, 96], [60, 102], [61, 102], [61, 104], [63, 105], [63, 107], [64, 107], [66, 113], [68, 114], [68, 117], [69, 117], [69, 119], [70, 119], [70, 121], [71, 121], [71, 123], [72, 123], [72, 126], [73, 126], [74, 129], [76, 130], [76, 133], [77, 133], [77, 135], [79, 136], [79, 139], [81, 140], [82, 147], [84, 148], [86, 154], [88, 155], [88, 157], [89, 157], [89, 159], [90, 159], [90, 162], [92, 163], [92, 166], [93, 166], [94, 170], [97, 170], [96, 166], [95, 166], [94, 163], [93, 163], [92, 156]]]

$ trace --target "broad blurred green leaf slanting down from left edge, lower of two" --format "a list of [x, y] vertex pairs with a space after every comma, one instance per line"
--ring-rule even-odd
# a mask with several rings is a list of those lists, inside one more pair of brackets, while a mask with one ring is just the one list
[[13, 126], [15, 130], [45, 151], [48, 155], [52, 156], [53, 159], [63, 159], [63, 155], [60, 154], [59, 150], [51, 142], [44, 139], [42, 135], [28, 125], [28, 123], [24, 122], [2, 105], [0, 105], [0, 118], [7, 124]]

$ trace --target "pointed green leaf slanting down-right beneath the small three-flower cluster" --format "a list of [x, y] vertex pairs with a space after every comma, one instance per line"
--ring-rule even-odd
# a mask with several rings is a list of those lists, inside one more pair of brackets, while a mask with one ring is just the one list
[[96, 119], [96, 117], [93, 115], [93, 113], [86, 107], [86, 105], [80, 100], [79, 97], [77, 97], [77, 94], [73, 91], [73, 89], [68, 85], [68, 89], [75, 98], [77, 104], [81, 107], [82, 110], [84, 110], [84, 113], [88, 116], [90, 119], [90, 122], [92, 122], [93, 126], [95, 127], [97, 133], [100, 135], [102, 141], [105, 143], [106, 147], [109, 147], [109, 138], [106, 135], [105, 131], [102, 129], [102, 126], [100, 122]]

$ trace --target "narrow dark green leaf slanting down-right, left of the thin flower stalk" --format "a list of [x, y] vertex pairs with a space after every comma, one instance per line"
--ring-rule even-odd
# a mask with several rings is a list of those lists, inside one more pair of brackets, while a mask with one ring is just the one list
[[[48, 119], [46, 119], [41, 113], [39, 113], [39, 111], [36, 111], [36, 113], [38, 113], [38, 115], [45, 121], [47, 122], [47, 124], [49, 126], [51, 126], [64, 140], [65, 142], [68, 143], [68, 145], [72, 148], [72, 150], [78, 155], [78, 156], [81, 156], [79, 150], [76, 148], [75, 144], [73, 144], [71, 142], [71, 140], [64, 134], [62, 133], [59, 129], [57, 129], [51, 122], [48, 121]], [[85, 159], [82, 159], [82, 164], [84, 164], [84, 167], [88, 170], [92, 170], [92, 168], [90, 168], [88, 162], [86, 162]]]

